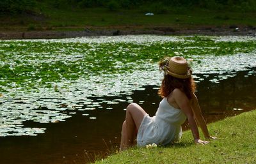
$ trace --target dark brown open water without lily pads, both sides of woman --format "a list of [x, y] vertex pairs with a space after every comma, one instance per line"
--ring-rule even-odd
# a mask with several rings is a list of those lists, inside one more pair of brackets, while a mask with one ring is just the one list
[[[196, 92], [207, 123], [256, 108], [255, 75], [238, 71], [235, 77], [220, 80], [219, 83], [210, 82], [213, 77], [213, 74], [204, 77], [198, 83]], [[111, 105], [106, 103], [103, 108], [95, 110], [77, 111], [60, 123], [26, 121], [24, 126], [47, 130], [35, 137], [0, 137], [0, 163], [88, 163], [95, 156], [98, 159], [108, 156], [118, 149], [124, 109], [129, 102], [140, 104], [150, 116], [154, 116], [161, 101], [157, 86], [145, 86], [144, 91], [134, 91], [131, 96], [104, 97], [104, 100], [116, 98], [128, 101]], [[93, 100], [100, 101], [100, 98]]]

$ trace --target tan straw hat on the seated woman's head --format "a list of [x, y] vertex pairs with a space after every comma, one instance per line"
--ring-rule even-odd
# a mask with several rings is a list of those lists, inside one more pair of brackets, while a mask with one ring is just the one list
[[191, 77], [191, 70], [188, 62], [183, 57], [175, 56], [169, 60], [168, 69], [166, 72], [176, 78]]

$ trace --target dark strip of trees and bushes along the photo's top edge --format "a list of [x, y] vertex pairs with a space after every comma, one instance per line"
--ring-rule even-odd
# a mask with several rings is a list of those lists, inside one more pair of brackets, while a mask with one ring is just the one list
[[54, 8], [93, 8], [104, 7], [109, 10], [138, 8], [151, 5], [159, 13], [175, 7], [200, 7], [211, 10], [256, 11], [256, 0], [0, 0], [0, 13], [22, 13], [35, 10], [38, 2], [48, 3]]

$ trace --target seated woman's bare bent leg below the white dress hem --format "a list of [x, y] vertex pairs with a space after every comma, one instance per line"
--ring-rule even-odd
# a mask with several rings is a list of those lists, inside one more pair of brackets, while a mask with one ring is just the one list
[[147, 113], [140, 105], [131, 103], [126, 109], [125, 121], [122, 126], [122, 138], [120, 150], [124, 150], [127, 147], [133, 145], [134, 134], [140, 128], [141, 121]]

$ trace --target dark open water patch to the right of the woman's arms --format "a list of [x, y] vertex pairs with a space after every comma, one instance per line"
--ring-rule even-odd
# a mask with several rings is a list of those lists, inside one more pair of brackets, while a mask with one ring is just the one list
[[[255, 68], [252, 70], [255, 71]], [[248, 71], [237, 71], [235, 77], [221, 80], [220, 83], [209, 83], [207, 79], [200, 82], [197, 94], [204, 113], [229, 115], [255, 108], [256, 78], [250, 72], [248, 75]]]

